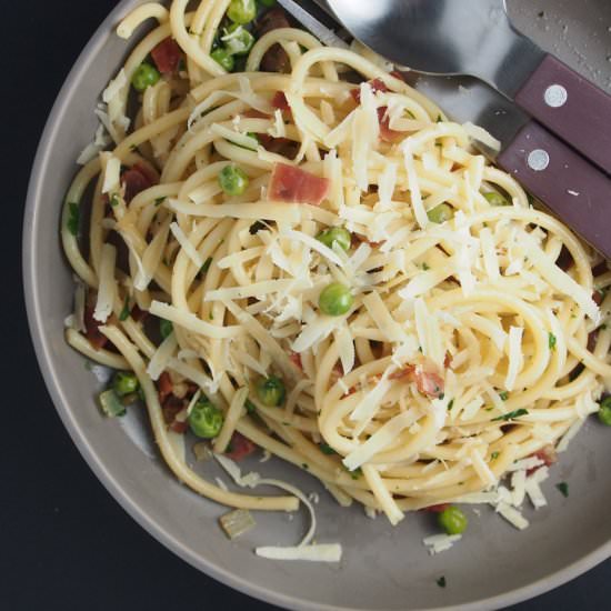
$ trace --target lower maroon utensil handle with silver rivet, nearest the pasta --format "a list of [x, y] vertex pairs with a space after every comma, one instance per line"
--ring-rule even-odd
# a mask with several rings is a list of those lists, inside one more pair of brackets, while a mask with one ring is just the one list
[[611, 259], [611, 179], [531, 121], [498, 157], [557, 217]]

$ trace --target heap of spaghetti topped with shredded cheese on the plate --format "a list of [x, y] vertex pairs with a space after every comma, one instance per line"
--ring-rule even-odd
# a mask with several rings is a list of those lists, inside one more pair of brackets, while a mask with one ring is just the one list
[[[136, 373], [168, 465], [220, 503], [299, 501], [236, 494], [187, 465], [170, 438], [196, 392], [223, 412], [216, 451], [239, 433], [393, 524], [490, 490], [598, 410], [611, 297], [592, 296], [611, 272], [594, 277], [601, 259], [489, 166], [468, 126], [364, 57], [280, 27], [228, 73], [213, 46], [229, 3], [150, 2], [118, 28], [157, 20], [104, 96], [113, 149], [66, 200], [63, 248], [89, 291], [87, 330], [68, 342]], [[180, 66], [130, 94], [172, 39]], [[270, 52], [288, 73], [261, 71]], [[219, 182], [227, 167], [240, 192]], [[333, 228], [348, 243], [321, 239]], [[330, 286], [348, 303], [334, 315]], [[173, 324], [163, 342], [153, 317]], [[271, 375], [277, 405], [257, 392]]]

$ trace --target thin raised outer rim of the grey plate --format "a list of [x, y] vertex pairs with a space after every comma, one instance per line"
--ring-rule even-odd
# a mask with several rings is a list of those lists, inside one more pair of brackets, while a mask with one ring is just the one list
[[[302, 598], [274, 592], [264, 585], [243, 579], [240, 575], [223, 569], [213, 561], [202, 557], [201, 554], [197, 554], [194, 551], [183, 545], [169, 530], [152, 520], [147, 513], [146, 508], [139, 505], [132, 499], [129, 490], [127, 490], [126, 487], [120, 483], [119, 479], [107, 469], [103, 457], [92, 449], [88, 441], [88, 435], [79, 427], [77, 419], [73, 417], [72, 409], [63, 394], [59, 377], [57, 375], [53, 364], [53, 359], [51, 357], [50, 341], [43, 331], [44, 319], [41, 312], [40, 293], [36, 282], [38, 272], [34, 269], [34, 261], [37, 259], [37, 241], [34, 240], [34, 236], [38, 233], [38, 212], [41, 208], [42, 201], [43, 177], [46, 176], [47, 167], [51, 157], [51, 144], [60, 129], [60, 119], [66, 112], [67, 104], [73, 93], [74, 87], [80, 81], [82, 72], [87, 69], [88, 64], [93, 61], [101, 46], [109, 38], [109, 36], [114, 34], [114, 26], [120, 20], [120, 17], [124, 16], [128, 9], [142, 3], [142, 1], [143, 0], [121, 0], [98, 27], [67, 76], [56, 98], [37, 147], [37, 153], [30, 173], [26, 207], [23, 211], [22, 279], [28, 325], [40, 372], [42, 373], [47, 390], [66, 430], [79, 450], [81, 457], [93, 471], [100, 483], [141, 528], [157, 539], [157, 541], [159, 541], [169, 551], [178, 555], [194, 569], [202, 571], [220, 583], [270, 604], [280, 605], [287, 609], [296, 609], [299, 611], [363, 611], [362, 609], [354, 609], [350, 607], [314, 603]], [[59, 240], [59, 234], [57, 234], [56, 238]], [[452, 604], [435, 608], [428, 607], [425, 609], [427, 611], [475, 611], [508, 607], [510, 604], [515, 604], [532, 599], [554, 588], [563, 585], [592, 569], [597, 564], [603, 562], [609, 557], [611, 557], [611, 540], [602, 542], [598, 548], [579, 560], [568, 564], [563, 569], [552, 572], [549, 575], [521, 588], [510, 590], [494, 597], [489, 597], [487, 599], [474, 600], [458, 605]]]

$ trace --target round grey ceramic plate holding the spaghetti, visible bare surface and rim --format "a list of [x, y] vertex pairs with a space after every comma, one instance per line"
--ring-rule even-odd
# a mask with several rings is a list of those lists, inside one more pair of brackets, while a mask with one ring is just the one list
[[[253, 597], [293, 609], [490, 609], [533, 597], [611, 553], [609, 433], [595, 422], [572, 443], [545, 483], [550, 507], [527, 510], [531, 528], [518, 532], [485, 508], [471, 514], [454, 549], [429, 557], [422, 538], [430, 517], [414, 514], [393, 530], [358, 508], [340, 510], [307, 474], [270, 461], [258, 465], [320, 493], [320, 541], [341, 541], [341, 565], [258, 559], [262, 543], [294, 543], [303, 517], [257, 515], [258, 528], [237, 543], [217, 527], [224, 511], [180, 485], [151, 443], [148, 425], [131, 414], [104, 420], [93, 403], [98, 382], [63, 341], [72, 281], [59, 247], [61, 202], [73, 160], [91, 140], [93, 108], [123, 59], [113, 26], [137, 0], [126, 0], [102, 23], [74, 66], [42, 138], [24, 224], [24, 284], [36, 349], [57, 409], [100, 481], [123, 508], [170, 550], [208, 574]], [[540, 12], [544, 10], [543, 14]], [[611, 86], [611, 3], [608, 0], [510, 1], [517, 26], [601, 87]], [[554, 483], [570, 483], [563, 499]], [[435, 579], [445, 575], [441, 589]]]

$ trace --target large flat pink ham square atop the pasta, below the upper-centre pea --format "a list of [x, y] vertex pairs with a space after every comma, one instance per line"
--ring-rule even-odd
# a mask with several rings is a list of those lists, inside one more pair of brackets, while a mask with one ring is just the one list
[[272, 201], [320, 206], [329, 194], [330, 187], [331, 182], [325, 178], [287, 163], [276, 163], [268, 197]]

